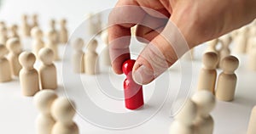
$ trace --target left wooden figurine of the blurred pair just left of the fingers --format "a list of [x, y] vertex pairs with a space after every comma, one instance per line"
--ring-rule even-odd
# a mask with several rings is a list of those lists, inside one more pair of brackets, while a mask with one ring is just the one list
[[81, 38], [73, 42], [73, 71], [74, 73], [84, 73], [84, 40]]

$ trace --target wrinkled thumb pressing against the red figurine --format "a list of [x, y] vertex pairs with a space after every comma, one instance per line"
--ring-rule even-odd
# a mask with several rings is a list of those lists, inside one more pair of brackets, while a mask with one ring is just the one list
[[160, 35], [149, 42], [138, 56], [132, 70], [133, 80], [141, 85], [154, 81], [188, 50], [189, 45], [182, 33], [169, 20]]

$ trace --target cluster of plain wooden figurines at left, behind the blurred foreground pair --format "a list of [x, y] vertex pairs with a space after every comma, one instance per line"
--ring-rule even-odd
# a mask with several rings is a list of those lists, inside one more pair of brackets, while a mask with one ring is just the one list
[[[58, 44], [67, 43], [68, 32], [65, 19], [60, 20], [59, 30], [55, 28], [55, 20], [50, 20], [49, 30], [44, 33], [38, 23], [38, 14], [32, 14], [31, 21], [28, 18], [24, 14], [20, 25], [9, 27], [3, 21], [0, 23], [0, 82], [20, 77], [23, 95], [33, 96], [39, 89], [57, 88], [53, 61], [59, 59]], [[26, 38], [32, 40], [32, 52], [23, 50], [22, 40]], [[36, 60], [42, 63], [38, 70], [33, 67]]]

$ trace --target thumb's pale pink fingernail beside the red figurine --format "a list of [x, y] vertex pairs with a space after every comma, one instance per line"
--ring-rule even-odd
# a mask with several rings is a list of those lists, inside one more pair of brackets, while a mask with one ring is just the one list
[[137, 70], [134, 70], [132, 78], [137, 84], [145, 85], [154, 80], [154, 71], [142, 65]]

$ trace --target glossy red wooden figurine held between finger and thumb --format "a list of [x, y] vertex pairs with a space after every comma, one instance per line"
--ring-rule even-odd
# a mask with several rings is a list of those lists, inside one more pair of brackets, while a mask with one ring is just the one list
[[125, 107], [127, 109], [138, 109], [143, 106], [143, 86], [138, 85], [132, 79], [131, 70], [135, 64], [134, 59], [128, 59], [122, 66], [122, 70], [126, 75], [124, 81], [125, 89]]

